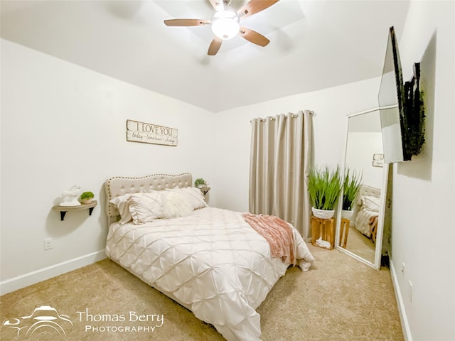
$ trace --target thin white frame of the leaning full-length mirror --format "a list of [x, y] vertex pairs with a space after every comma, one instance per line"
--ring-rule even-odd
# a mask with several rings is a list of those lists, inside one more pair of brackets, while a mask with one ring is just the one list
[[[390, 106], [394, 107], [394, 106]], [[343, 163], [341, 165], [341, 174], [344, 175], [345, 168], [346, 168], [346, 154], [348, 153], [348, 129], [349, 129], [349, 119], [351, 117], [356, 117], [361, 114], [368, 114], [370, 112], [378, 112], [380, 114], [380, 109], [387, 109], [388, 107], [375, 107], [373, 109], [364, 110], [363, 112], [356, 112], [355, 114], [349, 114], [346, 116], [346, 139], [345, 139], [345, 146], [344, 146], [344, 154], [343, 154]], [[343, 248], [340, 246], [340, 229], [341, 229], [341, 210], [343, 208], [343, 200], [339, 198], [343, 197], [343, 190], [341, 190], [340, 196], [338, 198], [338, 208], [336, 212], [336, 234], [335, 234], [335, 248], [341, 250], [345, 254], [352, 256], [353, 258], [361, 261], [369, 266], [372, 266], [375, 269], [380, 269], [381, 266], [381, 255], [382, 255], [382, 234], [384, 232], [384, 218], [385, 218], [385, 203], [387, 197], [387, 179], [389, 174], [389, 167], [390, 163], [384, 163], [383, 173], [382, 173], [382, 187], [381, 187], [381, 200], [380, 200], [380, 207], [379, 207], [379, 217], [378, 217], [378, 231], [376, 232], [376, 244], [375, 244], [375, 261], [371, 262], [367, 259], [364, 259], [357, 254]]]

